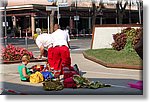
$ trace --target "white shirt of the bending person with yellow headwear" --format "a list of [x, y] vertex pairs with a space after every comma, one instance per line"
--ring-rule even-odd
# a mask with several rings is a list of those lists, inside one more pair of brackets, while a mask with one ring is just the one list
[[36, 44], [40, 48], [41, 46], [45, 48], [52, 47], [52, 36], [51, 34], [41, 34], [36, 38]]

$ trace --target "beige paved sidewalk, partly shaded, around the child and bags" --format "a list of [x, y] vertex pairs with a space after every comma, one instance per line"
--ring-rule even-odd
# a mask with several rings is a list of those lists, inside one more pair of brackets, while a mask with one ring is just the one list
[[[111, 84], [110, 88], [99, 89], [69, 89], [65, 88], [61, 91], [45, 91], [42, 83], [30, 84], [21, 82], [17, 72], [18, 64], [1, 64], [1, 83], [3, 82], [2, 94], [142, 94], [141, 90], [133, 89], [128, 86], [128, 82], [136, 82], [142, 80], [142, 70], [131, 69], [115, 69], [106, 68], [95, 62], [87, 60], [82, 53], [71, 53], [72, 65], [78, 64], [83, 76], [91, 81], [100, 81], [102, 83]], [[44, 62], [38, 62], [44, 64]], [[36, 63], [29, 63], [29, 67]], [[8, 90], [11, 90], [8, 92]]]

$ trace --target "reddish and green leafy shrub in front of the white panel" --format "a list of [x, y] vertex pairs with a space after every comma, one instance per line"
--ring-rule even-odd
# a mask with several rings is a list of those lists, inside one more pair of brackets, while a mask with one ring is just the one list
[[113, 34], [114, 42], [111, 45], [117, 51], [124, 49], [127, 52], [131, 52], [134, 50], [135, 44], [138, 43], [141, 34], [143, 35], [142, 28], [123, 29], [121, 33]]

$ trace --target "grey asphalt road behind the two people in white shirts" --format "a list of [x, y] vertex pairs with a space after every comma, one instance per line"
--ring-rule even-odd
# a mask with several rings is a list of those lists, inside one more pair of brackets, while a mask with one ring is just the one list
[[[91, 37], [90, 38], [79, 38], [79, 39], [71, 39], [71, 52], [81, 52], [86, 49], [90, 49], [91, 47]], [[1, 44], [4, 45], [4, 39], [1, 39]], [[35, 41], [32, 38], [8, 38], [7, 44], [12, 44], [18, 47], [27, 48], [29, 51], [39, 51], [37, 48]]]

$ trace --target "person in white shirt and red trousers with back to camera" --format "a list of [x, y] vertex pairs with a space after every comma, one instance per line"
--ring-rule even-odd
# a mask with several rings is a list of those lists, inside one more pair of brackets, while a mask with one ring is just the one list
[[54, 75], [59, 78], [63, 74], [63, 68], [71, 66], [68, 34], [55, 24], [52, 39]]

